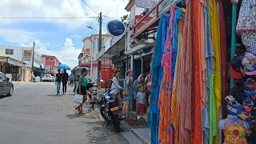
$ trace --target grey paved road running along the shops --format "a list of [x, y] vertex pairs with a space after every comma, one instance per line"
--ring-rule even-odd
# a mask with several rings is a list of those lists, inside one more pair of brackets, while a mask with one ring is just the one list
[[[71, 88], [56, 96], [52, 82], [14, 86], [12, 97], [0, 98], [1, 144], [127, 143], [114, 126], [106, 126], [98, 109], [74, 112]], [[122, 131], [129, 130], [122, 123]]]

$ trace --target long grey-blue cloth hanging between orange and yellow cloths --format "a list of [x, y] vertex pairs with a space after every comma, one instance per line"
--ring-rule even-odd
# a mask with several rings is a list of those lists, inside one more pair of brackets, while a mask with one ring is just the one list
[[205, 15], [205, 58], [206, 58], [206, 105], [202, 110], [202, 132], [203, 143], [208, 144], [210, 138], [210, 75], [214, 73], [214, 46], [211, 39], [210, 32], [210, 17], [209, 7], [206, 0], [204, 0], [204, 15]]

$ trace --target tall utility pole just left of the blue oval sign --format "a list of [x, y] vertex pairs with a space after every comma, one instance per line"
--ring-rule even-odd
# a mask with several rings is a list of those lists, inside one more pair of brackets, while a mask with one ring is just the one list
[[[102, 12], [99, 14], [98, 52], [102, 50]], [[98, 61], [98, 83], [101, 82], [102, 62]]]

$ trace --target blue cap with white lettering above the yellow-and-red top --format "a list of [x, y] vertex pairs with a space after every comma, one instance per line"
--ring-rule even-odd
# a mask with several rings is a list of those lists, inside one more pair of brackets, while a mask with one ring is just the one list
[[231, 115], [238, 115], [242, 112], [242, 105], [238, 103], [232, 95], [226, 96], [227, 111]]

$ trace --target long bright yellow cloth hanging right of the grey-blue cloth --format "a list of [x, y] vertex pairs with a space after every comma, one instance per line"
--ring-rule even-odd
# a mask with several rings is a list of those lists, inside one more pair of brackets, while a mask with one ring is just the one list
[[[222, 98], [222, 79], [221, 79], [221, 59], [220, 59], [220, 32], [219, 32], [219, 21], [218, 21], [218, 7], [216, 0], [210, 0], [210, 28], [211, 28], [211, 36], [213, 40], [214, 46], [214, 95], [216, 102], [216, 118], [219, 121], [219, 108], [221, 106], [221, 98]], [[217, 128], [218, 130], [218, 128]], [[216, 137], [214, 138], [215, 144], [218, 144], [218, 131]]]

